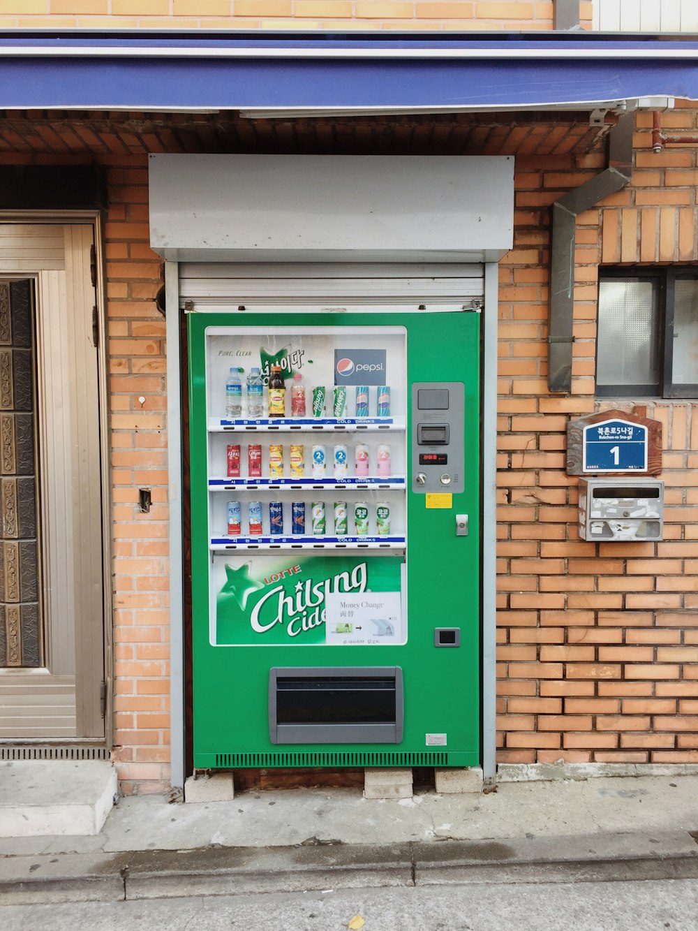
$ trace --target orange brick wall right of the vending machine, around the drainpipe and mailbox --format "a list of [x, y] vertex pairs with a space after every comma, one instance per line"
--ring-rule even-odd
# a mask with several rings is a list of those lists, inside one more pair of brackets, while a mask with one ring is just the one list
[[499, 307], [501, 762], [698, 762], [698, 404], [647, 406], [664, 425], [663, 542], [581, 541], [565, 473], [570, 417], [632, 410], [593, 397], [599, 261], [698, 262], [695, 148], [655, 155], [650, 127], [639, 115], [632, 184], [579, 218], [571, 397], [546, 386], [547, 207], [600, 160], [517, 158]]

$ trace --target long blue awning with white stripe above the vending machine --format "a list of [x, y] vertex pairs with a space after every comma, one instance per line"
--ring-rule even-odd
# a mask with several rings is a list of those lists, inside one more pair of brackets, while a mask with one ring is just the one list
[[698, 40], [0, 34], [4, 109], [518, 110], [698, 99]]

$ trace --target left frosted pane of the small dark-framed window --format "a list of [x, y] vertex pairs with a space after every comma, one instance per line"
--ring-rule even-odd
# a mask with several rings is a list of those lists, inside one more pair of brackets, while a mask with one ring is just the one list
[[657, 293], [653, 281], [598, 286], [597, 385], [658, 385]]

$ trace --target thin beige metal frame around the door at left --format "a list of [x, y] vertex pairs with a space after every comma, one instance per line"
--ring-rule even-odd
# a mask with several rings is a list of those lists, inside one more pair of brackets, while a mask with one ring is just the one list
[[[103, 737], [74, 737], [74, 738], [9, 738], [0, 740], [0, 760], [2, 759], [50, 759], [52, 750], [58, 752], [69, 749], [71, 759], [100, 758], [109, 759], [109, 753], [114, 744], [114, 602], [110, 579], [114, 561], [114, 534], [108, 528], [113, 525], [113, 498], [110, 471], [110, 436], [111, 417], [109, 409], [109, 368], [107, 345], [107, 302], [105, 287], [105, 261], [103, 243], [103, 215], [99, 209], [80, 210], [0, 210], [0, 224], [11, 223], [41, 224], [41, 225], [73, 225], [83, 224], [92, 227], [94, 256], [94, 289], [97, 306], [97, 381], [98, 405], [100, 415], [99, 425], [99, 456], [100, 456], [100, 490], [101, 490], [101, 526], [102, 531], [102, 637], [103, 651], [102, 663], [104, 672], [104, 736]], [[3, 277], [26, 277], [37, 280], [41, 269], [30, 271], [21, 269], [17, 272], [7, 271]], [[13, 752], [14, 751], [14, 752]], [[34, 751], [34, 752], [33, 752]], [[61, 752], [61, 758], [65, 757]]]

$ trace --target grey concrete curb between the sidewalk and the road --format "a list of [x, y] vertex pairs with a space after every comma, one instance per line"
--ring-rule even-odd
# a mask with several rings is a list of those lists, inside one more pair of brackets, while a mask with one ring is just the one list
[[688, 831], [514, 841], [318, 842], [0, 858], [4, 905], [378, 886], [698, 879]]

